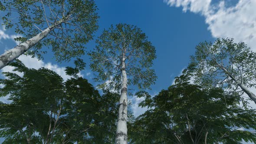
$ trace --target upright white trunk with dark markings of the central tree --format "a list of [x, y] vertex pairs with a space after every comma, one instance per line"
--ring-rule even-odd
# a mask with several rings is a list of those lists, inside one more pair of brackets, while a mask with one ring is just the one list
[[125, 72], [125, 58], [122, 59], [122, 87], [119, 100], [118, 121], [116, 129], [115, 144], [127, 144], [127, 74]]

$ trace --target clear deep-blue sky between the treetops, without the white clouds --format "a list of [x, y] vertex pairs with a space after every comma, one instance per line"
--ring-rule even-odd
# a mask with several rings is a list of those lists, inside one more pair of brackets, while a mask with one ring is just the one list
[[[189, 56], [194, 53], [194, 47], [198, 43], [205, 40], [214, 41], [215, 39], [207, 30], [203, 16], [190, 12], [184, 13], [182, 7], [169, 7], [162, 0], [96, 0], [96, 5], [100, 19], [95, 39], [102, 33], [103, 29], [108, 29], [111, 24], [128, 23], [141, 28], [155, 46], [157, 59], [154, 60], [153, 69], [155, 69], [158, 79], [155, 85], [151, 86], [152, 90], [149, 91], [152, 95], [158, 94], [159, 91], [172, 84], [174, 77], [186, 68], [189, 63]], [[15, 33], [9, 29], [4, 33], [9, 35], [10, 39], [2, 38], [0, 43], [4, 49], [10, 49], [16, 45], [11, 38], [12, 35], [15, 36]], [[87, 50], [93, 49], [94, 46], [94, 40], [90, 41], [87, 44]], [[0, 51], [3, 52], [4, 49], [0, 49]], [[43, 59], [45, 65], [43, 66], [49, 62], [52, 65], [48, 66], [52, 68], [53, 65], [61, 69], [73, 65], [72, 61], [57, 63], [52, 57], [51, 52], [45, 55]], [[96, 85], [92, 80], [93, 72], [89, 69], [89, 56], [82, 56], [82, 59], [87, 63], [82, 74], [89, 82]], [[26, 61], [31, 67], [36, 66], [37, 68], [42, 65], [36, 64], [37, 60], [33, 62], [33, 60], [26, 58]], [[136, 102], [136, 98], [130, 99], [134, 103]], [[138, 114], [136, 110], [135, 115]]]

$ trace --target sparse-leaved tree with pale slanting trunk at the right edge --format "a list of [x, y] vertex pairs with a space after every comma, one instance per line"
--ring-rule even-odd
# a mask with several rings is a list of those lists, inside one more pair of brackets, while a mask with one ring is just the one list
[[[233, 39], [217, 39], [214, 43], [200, 43], [191, 56], [196, 84], [219, 86], [231, 92], [244, 92], [256, 102], [249, 88], [256, 88], [256, 52]], [[239, 90], [240, 88], [240, 90]]]

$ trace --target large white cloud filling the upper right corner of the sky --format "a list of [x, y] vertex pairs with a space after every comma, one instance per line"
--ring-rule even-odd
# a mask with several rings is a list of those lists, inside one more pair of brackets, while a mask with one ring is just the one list
[[208, 29], [215, 38], [234, 38], [256, 51], [256, 0], [239, 0], [233, 7], [227, 1], [213, 4], [213, 0], [164, 0], [171, 7], [183, 7], [205, 17]]

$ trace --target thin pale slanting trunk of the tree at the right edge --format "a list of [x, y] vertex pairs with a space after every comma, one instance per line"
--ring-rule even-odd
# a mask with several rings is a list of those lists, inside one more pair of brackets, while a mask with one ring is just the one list
[[253, 92], [251, 92], [245, 85], [242, 84], [242, 82], [240, 82], [239, 80], [237, 80], [235, 77], [233, 77], [233, 75], [231, 75], [228, 70], [226, 68], [224, 68], [223, 66], [221, 66], [220, 64], [218, 64], [218, 66], [220, 67], [220, 69], [222, 69], [227, 75], [229, 75], [229, 77], [231, 79], [233, 79], [234, 82], [236, 82], [239, 87], [243, 90], [243, 92], [245, 92], [249, 98], [251, 98], [251, 100], [253, 100], [256, 104], [256, 95], [253, 94]]

